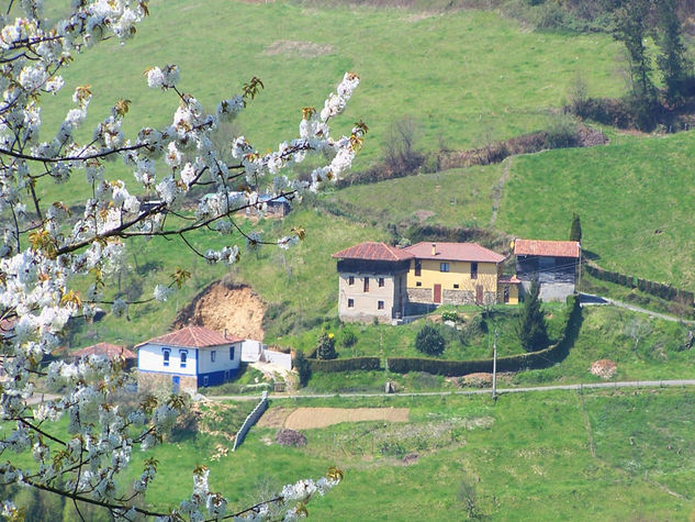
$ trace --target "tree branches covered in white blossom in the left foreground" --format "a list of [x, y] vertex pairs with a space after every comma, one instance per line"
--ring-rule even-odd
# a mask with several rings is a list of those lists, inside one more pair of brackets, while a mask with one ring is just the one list
[[[245, 233], [235, 222], [235, 212], [262, 211], [272, 199], [300, 201], [306, 191], [321, 190], [350, 167], [367, 127], [360, 122], [350, 135], [333, 137], [329, 123], [344, 111], [359, 78], [346, 74], [322, 110], [305, 108], [299, 136], [280, 143], [273, 152], [261, 154], [244, 136], [235, 137], [233, 162], [224, 160], [213, 134], [246, 108], [262, 82], [253, 78], [242, 92], [206, 113], [194, 96], [179, 87], [176, 65], [146, 71], [149, 87], [178, 101], [170, 125], [143, 127], [136, 136], [126, 137], [122, 125], [130, 102], [114, 100], [91, 137], [79, 143], [76, 131], [85, 124], [92, 97], [90, 87], [82, 86], [75, 90], [74, 108], [57, 133], [45, 135], [41, 102], [63, 88], [58, 73], [85, 47], [108, 38], [131, 38], [148, 10], [146, 0], [74, 0], [67, 18], [48, 22], [42, 4], [42, 0], [10, 0], [0, 15], [0, 359], [4, 373], [0, 484], [61, 495], [75, 502], [78, 513], [78, 502], [97, 504], [125, 520], [143, 515], [265, 520], [277, 517], [270, 507], [278, 503], [283, 506], [282, 518], [305, 514], [305, 503], [313, 496], [338, 484], [338, 470], [330, 469], [316, 481], [302, 479], [273, 499], [234, 510], [222, 493], [210, 491], [209, 470], [201, 466], [192, 470], [191, 497], [179, 506], [166, 512], [139, 507], [142, 502], [135, 501], [155, 479], [157, 462], [145, 462], [127, 493], [117, 477], [135, 447], [162, 441], [183, 408], [182, 399], [149, 397], [125, 414], [114, 402], [115, 391], [126, 381], [122, 360], [92, 356], [77, 364], [48, 366], [43, 360], [58, 346], [70, 318], [89, 319], [104, 303], [111, 304], [114, 314], [123, 314], [133, 304], [104, 297], [104, 277], [123, 262], [128, 237], [176, 236], [209, 263], [226, 264], [238, 260], [237, 246], [199, 252], [188, 234], [203, 227], [222, 235], [242, 234], [249, 247], [288, 248], [300, 241], [303, 230], [272, 240]], [[330, 159], [306, 179], [285, 174], [310, 154]], [[104, 175], [113, 162], [123, 162], [133, 179], [108, 181]], [[61, 201], [38, 197], [45, 193], [40, 191], [43, 185], [68, 180], [89, 187], [91, 197], [79, 215], [70, 215]], [[245, 191], [233, 190], [239, 185]], [[203, 187], [205, 196], [194, 211], [183, 209], [183, 198], [190, 198], [197, 187]], [[261, 200], [259, 193], [270, 193], [270, 198]], [[86, 295], [75, 290], [76, 277], [91, 281]], [[153, 289], [152, 299], [167, 299], [187, 277], [186, 270], [178, 270], [170, 285]], [[67, 391], [57, 400], [36, 404], [30, 399], [40, 377]], [[98, 412], [97, 421], [85, 413], [87, 406]], [[56, 433], [52, 423], [65, 415], [67, 432]], [[34, 466], [16, 464], [16, 454], [30, 452]], [[4, 502], [2, 514], [21, 515], [11, 500]]]

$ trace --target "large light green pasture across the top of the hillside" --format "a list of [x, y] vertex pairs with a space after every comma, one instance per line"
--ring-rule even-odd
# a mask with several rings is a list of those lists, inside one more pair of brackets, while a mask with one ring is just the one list
[[[362, 84], [336, 129], [359, 119], [369, 125], [358, 168], [381, 155], [389, 125], [404, 115], [417, 120], [424, 149], [470, 148], [545, 127], [578, 74], [591, 95], [624, 91], [615, 74], [619, 46], [608, 36], [529, 32], [495, 12], [226, 0], [154, 0], [150, 12], [126, 45], [97, 45], [61, 70], [66, 87], [44, 101], [44, 136], [86, 84], [93, 99], [85, 137], [120, 98], [132, 101], [126, 135], [169, 124], [176, 95], [148, 89], [143, 76], [169, 63], [181, 69], [180, 89], [211, 110], [260, 77], [266, 89], [237, 125], [260, 151], [295, 136], [301, 109], [321, 107], [346, 70], [358, 73]], [[109, 171], [131, 179], [120, 164]], [[81, 179], [43, 190], [65, 202], [89, 193]]]

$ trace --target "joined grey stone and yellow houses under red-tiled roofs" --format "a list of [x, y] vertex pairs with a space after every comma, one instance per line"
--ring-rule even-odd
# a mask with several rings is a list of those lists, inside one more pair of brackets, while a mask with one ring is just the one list
[[367, 242], [333, 257], [343, 321], [392, 322], [418, 306], [518, 303], [522, 281], [502, 276], [505, 256], [473, 243]]

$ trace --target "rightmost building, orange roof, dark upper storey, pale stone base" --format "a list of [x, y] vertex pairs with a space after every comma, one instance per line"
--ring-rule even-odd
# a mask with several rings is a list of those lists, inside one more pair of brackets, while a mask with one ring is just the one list
[[516, 240], [516, 276], [527, 291], [536, 279], [543, 301], [564, 301], [574, 293], [581, 253], [576, 241]]

